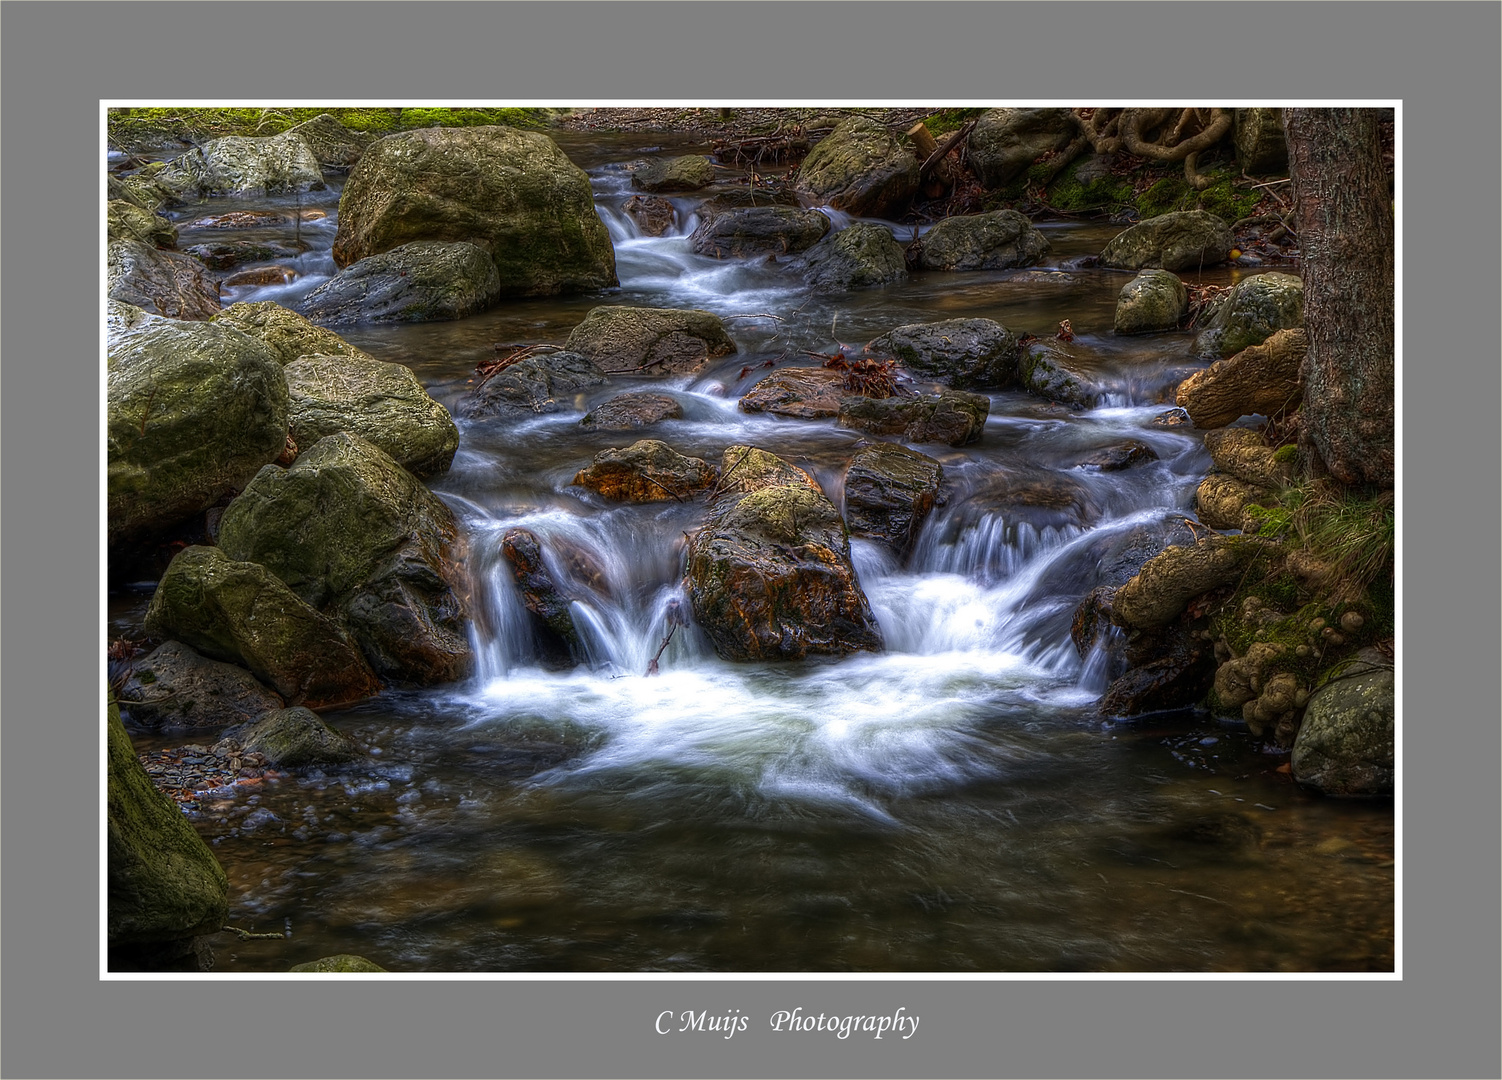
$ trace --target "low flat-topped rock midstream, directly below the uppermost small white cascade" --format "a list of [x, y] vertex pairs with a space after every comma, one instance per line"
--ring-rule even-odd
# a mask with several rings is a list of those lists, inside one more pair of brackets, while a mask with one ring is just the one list
[[593, 308], [563, 347], [607, 373], [644, 376], [698, 371], [736, 351], [719, 315], [679, 308]]

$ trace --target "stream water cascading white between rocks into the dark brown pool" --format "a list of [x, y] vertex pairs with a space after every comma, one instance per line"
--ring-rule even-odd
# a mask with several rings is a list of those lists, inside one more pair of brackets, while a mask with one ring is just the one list
[[[985, 317], [1047, 336], [1069, 318], [1095, 404], [993, 394], [978, 445], [921, 448], [942, 460], [948, 502], [912, 554], [855, 541], [885, 653], [728, 664], [691, 626], [653, 677], [701, 503], [616, 506], [571, 487], [595, 452], [635, 439], [584, 431], [577, 410], [460, 421], [454, 467], [431, 487], [466, 535], [478, 674], [327, 713], [366, 765], [201, 804], [197, 825], [230, 874], [230, 922], [291, 931], [221, 948], [218, 970], [282, 972], [335, 952], [416, 972], [1392, 970], [1391, 804], [1304, 793], [1278, 772], [1287, 756], [1239, 724], [1101, 718], [1108, 664], [1069, 641], [1113, 545], [1190, 511], [1209, 466], [1197, 436], [1151, 424], [1200, 367], [1191, 336], [1113, 336], [1126, 278], [1071, 264], [1119, 225], [1044, 224], [1053, 252], [1029, 272], [811, 296], [786, 266], [694, 255], [701, 195], [673, 198], [664, 237], [620, 212], [626, 164], [682, 141], [559, 141], [590, 171], [619, 290], [344, 336], [410, 365], [454, 407], [497, 345], [562, 342], [598, 303], [713, 311], [734, 356], [695, 376], [613, 379], [574, 404], [671, 394], [683, 418], [643, 434], [712, 461], [733, 443], [771, 449], [837, 505], [865, 436], [739, 412], [766, 361], [817, 364], [805, 351], [913, 321]], [[293, 303], [324, 279], [336, 200], [299, 201], [326, 216], [299, 227], [309, 249], [291, 263], [297, 281], [236, 288], [225, 303]], [[179, 225], [266, 204], [213, 200]], [[183, 246], [204, 239], [183, 228]], [[1080, 464], [1125, 440], [1158, 460]], [[997, 496], [1018, 476], [1051, 497]], [[568, 583], [586, 661], [572, 670], [542, 662], [505, 571], [514, 526], [544, 541]], [[138, 626], [147, 596], [111, 596], [111, 635]], [[135, 739], [143, 751], [185, 741]]]

